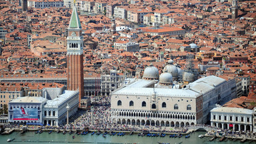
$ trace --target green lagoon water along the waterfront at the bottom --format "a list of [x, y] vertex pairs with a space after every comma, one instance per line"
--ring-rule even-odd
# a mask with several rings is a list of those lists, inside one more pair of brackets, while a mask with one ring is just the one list
[[[124, 135], [124, 136], [111, 136], [107, 135], [106, 138], [101, 135], [91, 135], [91, 133], [87, 135], [75, 135], [75, 139], [73, 139], [73, 135], [69, 135], [66, 133], [63, 135], [62, 133], [47, 133], [43, 132], [41, 134], [35, 132], [27, 132], [25, 134], [20, 134], [17, 132], [12, 133], [11, 135], [0, 135], [0, 144], [7, 143], [7, 139], [15, 138], [14, 141], [10, 143], [189, 143], [189, 144], [199, 144], [199, 143], [240, 143], [239, 140], [225, 140], [223, 142], [219, 142], [219, 139], [215, 139], [214, 141], [209, 141], [209, 137], [205, 137], [203, 139], [199, 139], [198, 135], [205, 134], [205, 132], [195, 132], [191, 133], [191, 137], [185, 139], [185, 137], [181, 138], [170, 138], [169, 135], [165, 137], [139, 137], [137, 134], [134, 135]], [[245, 143], [256, 143], [251, 141], [246, 141]]]

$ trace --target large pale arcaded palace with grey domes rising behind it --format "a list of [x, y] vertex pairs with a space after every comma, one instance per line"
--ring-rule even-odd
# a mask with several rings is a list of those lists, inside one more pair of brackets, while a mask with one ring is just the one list
[[111, 121], [165, 127], [203, 124], [210, 120], [213, 105], [226, 103], [235, 96], [233, 80], [212, 75], [180, 89], [179, 85], [173, 85], [173, 75], [179, 75], [179, 71], [165, 67], [159, 77], [157, 68], [150, 65], [143, 79], [113, 91]]

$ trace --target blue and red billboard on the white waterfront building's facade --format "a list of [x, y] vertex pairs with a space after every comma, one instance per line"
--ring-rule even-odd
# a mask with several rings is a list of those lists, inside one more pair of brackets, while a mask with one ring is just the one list
[[37, 108], [15, 108], [13, 109], [13, 120], [38, 120]]

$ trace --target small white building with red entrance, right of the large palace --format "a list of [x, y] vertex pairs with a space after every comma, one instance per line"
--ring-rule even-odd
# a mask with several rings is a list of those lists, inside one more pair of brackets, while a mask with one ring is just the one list
[[211, 126], [235, 131], [253, 131], [253, 110], [215, 107], [211, 110]]

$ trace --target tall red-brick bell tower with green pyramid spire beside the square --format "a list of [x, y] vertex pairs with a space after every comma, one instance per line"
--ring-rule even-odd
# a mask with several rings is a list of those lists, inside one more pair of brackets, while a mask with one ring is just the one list
[[77, 7], [73, 5], [67, 28], [67, 90], [79, 90], [79, 107], [84, 96], [83, 86], [83, 35]]

